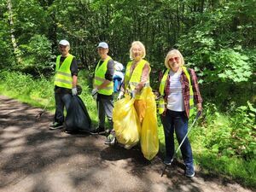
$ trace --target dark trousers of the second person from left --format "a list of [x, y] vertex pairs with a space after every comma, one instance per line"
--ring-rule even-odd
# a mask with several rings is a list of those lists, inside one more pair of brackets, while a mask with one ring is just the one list
[[113, 99], [111, 97], [98, 97], [96, 102], [98, 109], [99, 126], [105, 127], [105, 117], [107, 116], [108, 122], [110, 124], [109, 130], [113, 130]]

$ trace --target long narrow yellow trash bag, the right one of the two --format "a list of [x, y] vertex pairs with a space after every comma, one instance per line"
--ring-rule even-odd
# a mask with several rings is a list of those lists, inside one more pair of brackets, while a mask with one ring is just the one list
[[144, 88], [141, 96], [146, 101], [146, 112], [141, 131], [141, 147], [147, 160], [152, 160], [159, 150], [156, 105], [150, 87]]

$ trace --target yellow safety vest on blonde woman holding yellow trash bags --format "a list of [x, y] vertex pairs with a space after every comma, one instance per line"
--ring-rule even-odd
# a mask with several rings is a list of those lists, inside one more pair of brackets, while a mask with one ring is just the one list
[[[130, 73], [132, 61], [127, 63], [126, 70], [125, 70], [125, 90], [135, 90], [137, 84], [141, 82], [141, 77], [143, 74], [143, 67], [147, 61], [141, 60], [137, 63], [137, 67]], [[149, 67], [150, 68], [150, 67]], [[150, 72], [151, 69], [149, 69]], [[144, 87], [149, 86], [149, 77], [147, 82], [145, 83]], [[137, 94], [136, 99], [139, 99], [139, 94]]]

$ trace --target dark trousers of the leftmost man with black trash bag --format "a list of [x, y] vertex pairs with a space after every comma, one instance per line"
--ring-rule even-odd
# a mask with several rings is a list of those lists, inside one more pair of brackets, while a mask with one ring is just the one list
[[55, 92], [55, 122], [64, 122], [64, 106], [66, 110], [70, 106], [72, 95], [69, 93], [56, 93]]

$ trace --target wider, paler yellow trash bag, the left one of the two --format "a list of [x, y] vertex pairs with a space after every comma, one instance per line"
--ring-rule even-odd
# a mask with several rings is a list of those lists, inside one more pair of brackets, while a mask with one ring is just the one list
[[134, 146], [139, 142], [141, 125], [133, 106], [134, 99], [129, 96], [114, 103], [113, 129], [119, 143]]

